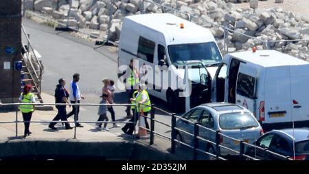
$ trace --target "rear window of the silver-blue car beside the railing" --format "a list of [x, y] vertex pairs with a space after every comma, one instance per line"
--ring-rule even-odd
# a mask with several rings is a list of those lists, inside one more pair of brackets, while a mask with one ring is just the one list
[[219, 126], [221, 129], [249, 129], [258, 127], [258, 122], [248, 112], [222, 113], [219, 116]]

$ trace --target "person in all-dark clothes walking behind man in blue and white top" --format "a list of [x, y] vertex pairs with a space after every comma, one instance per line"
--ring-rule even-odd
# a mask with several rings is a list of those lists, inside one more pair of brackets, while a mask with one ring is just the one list
[[[67, 89], [65, 89], [65, 80], [63, 78], [60, 78], [58, 80], [58, 85], [56, 86], [55, 89], [55, 103], [67, 103], [69, 104], [69, 101], [67, 98], [69, 97], [69, 93]], [[58, 109], [58, 113], [56, 117], [53, 119], [53, 121], [67, 121], [67, 106], [66, 105], [56, 105], [56, 108]], [[49, 128], [53, 130], [57, 130], [55, 127], [56, 122], [51, 122], [49, 124]], [[65, 129], [72, 129], [73, 127], [70, 126], [68, 122], [65, 122]]]

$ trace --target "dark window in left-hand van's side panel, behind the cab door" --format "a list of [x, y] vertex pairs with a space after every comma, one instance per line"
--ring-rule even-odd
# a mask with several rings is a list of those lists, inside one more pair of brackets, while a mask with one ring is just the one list
[[137, 56], [145, 61], [153, 63], [153, 54], [155, 53], [155, 42], [144, 37], [139, 37], [139, 47]]

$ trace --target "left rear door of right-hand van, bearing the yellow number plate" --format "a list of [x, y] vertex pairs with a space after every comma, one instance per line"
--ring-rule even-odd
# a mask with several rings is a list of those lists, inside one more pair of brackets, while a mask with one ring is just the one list
[[263, 123], [290, 122], [290, 66], [266, 67]]

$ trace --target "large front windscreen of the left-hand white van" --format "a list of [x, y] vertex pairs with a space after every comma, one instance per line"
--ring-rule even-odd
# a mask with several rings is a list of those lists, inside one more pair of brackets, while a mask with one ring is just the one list
[[184, 66], [185, 61], [202, 61], [205, 65], [220, 63], [221, 54], [216, 43], [189, 43], [169, 45], [170, 61], [175, 66]]

